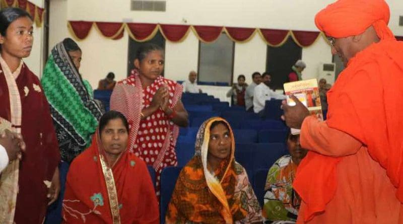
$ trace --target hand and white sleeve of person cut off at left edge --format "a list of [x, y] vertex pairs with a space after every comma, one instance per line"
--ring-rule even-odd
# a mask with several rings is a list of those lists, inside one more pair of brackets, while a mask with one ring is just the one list
[[0, 134], [0, 172], [2, 172], [9, 161], [21, 159], [21, 151], [25, 151], [25, 143], [22, 136], [5, 130]]

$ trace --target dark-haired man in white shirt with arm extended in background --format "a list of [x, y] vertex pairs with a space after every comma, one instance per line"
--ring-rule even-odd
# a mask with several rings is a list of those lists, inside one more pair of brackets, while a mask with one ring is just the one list
[[275, 98], [278, 100], [286, 99], [285, 95], [275, 93], [268, 87], [272, 82], [272, 76], [268, 72], [264, 72], [261, 75], [261, 79], [262, 83], [255, 87], [255, 91], [253, 93], [253, 111], [256, 114], [260, 114], [261, 112], [263, 112], [266, 100], [271, 100], [271, 98]]

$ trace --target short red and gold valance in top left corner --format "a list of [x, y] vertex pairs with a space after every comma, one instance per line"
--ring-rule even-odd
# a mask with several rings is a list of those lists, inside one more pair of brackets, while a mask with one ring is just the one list
[[0, 0], [2, 8], [18, 7], [23, 9], [31, 15], [36, 26], [41, 27], [43, 23], [44, 9], [36, 6], [27, 0]]

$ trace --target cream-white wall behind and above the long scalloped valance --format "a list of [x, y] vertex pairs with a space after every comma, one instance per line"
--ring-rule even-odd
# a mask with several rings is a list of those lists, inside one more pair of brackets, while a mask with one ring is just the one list
[[[84, 21], [132, 21], [137, 23], [163, 23], [213, 25], [232, 27], [291, 29], [317, 31], [315, 14], [333, 0], [167, 0], [166, 12], [131, 12], [129, 0], [52, 0], [50, 9], [50, 41], [54, 46], [70, 36], [68, 20]], [[386, 0], [391, 9], [390, 28], [403, 36], [403, 27], [397, 26], [403, 12], [403, 1]], [[83, 49], [81, 72], [94, 88], [108, 71], [116, 78], [126, 75], [128, 36], [120, 40], [108, 40], [92, 30], [86, 40], [78, 42]], [[192, 32], [181, 43], [167, 41], [165, 46], [165, 75], [169, 79], [183, 80], [190, 70], [197, 70], [198, 40]], [[245, 74], [251, 82], [253, 71], [264, 71], [266, 45], [259, 35], [247, 43], [235, 44], [234, 81], [238, 74]], [[314, 78], [320, 62], [331, 62], [330, 47], [323, 38], [310, 47], [303, 48], [302, 59], [307, 63], [304, 78]]]

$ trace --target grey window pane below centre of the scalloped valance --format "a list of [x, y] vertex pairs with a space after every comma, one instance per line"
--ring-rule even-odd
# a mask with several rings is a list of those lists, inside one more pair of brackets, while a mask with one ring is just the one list
[[235, 43], [225, 33], [213, 43], [199, 41], [198, 83], [232, 85], [234, 48]]

